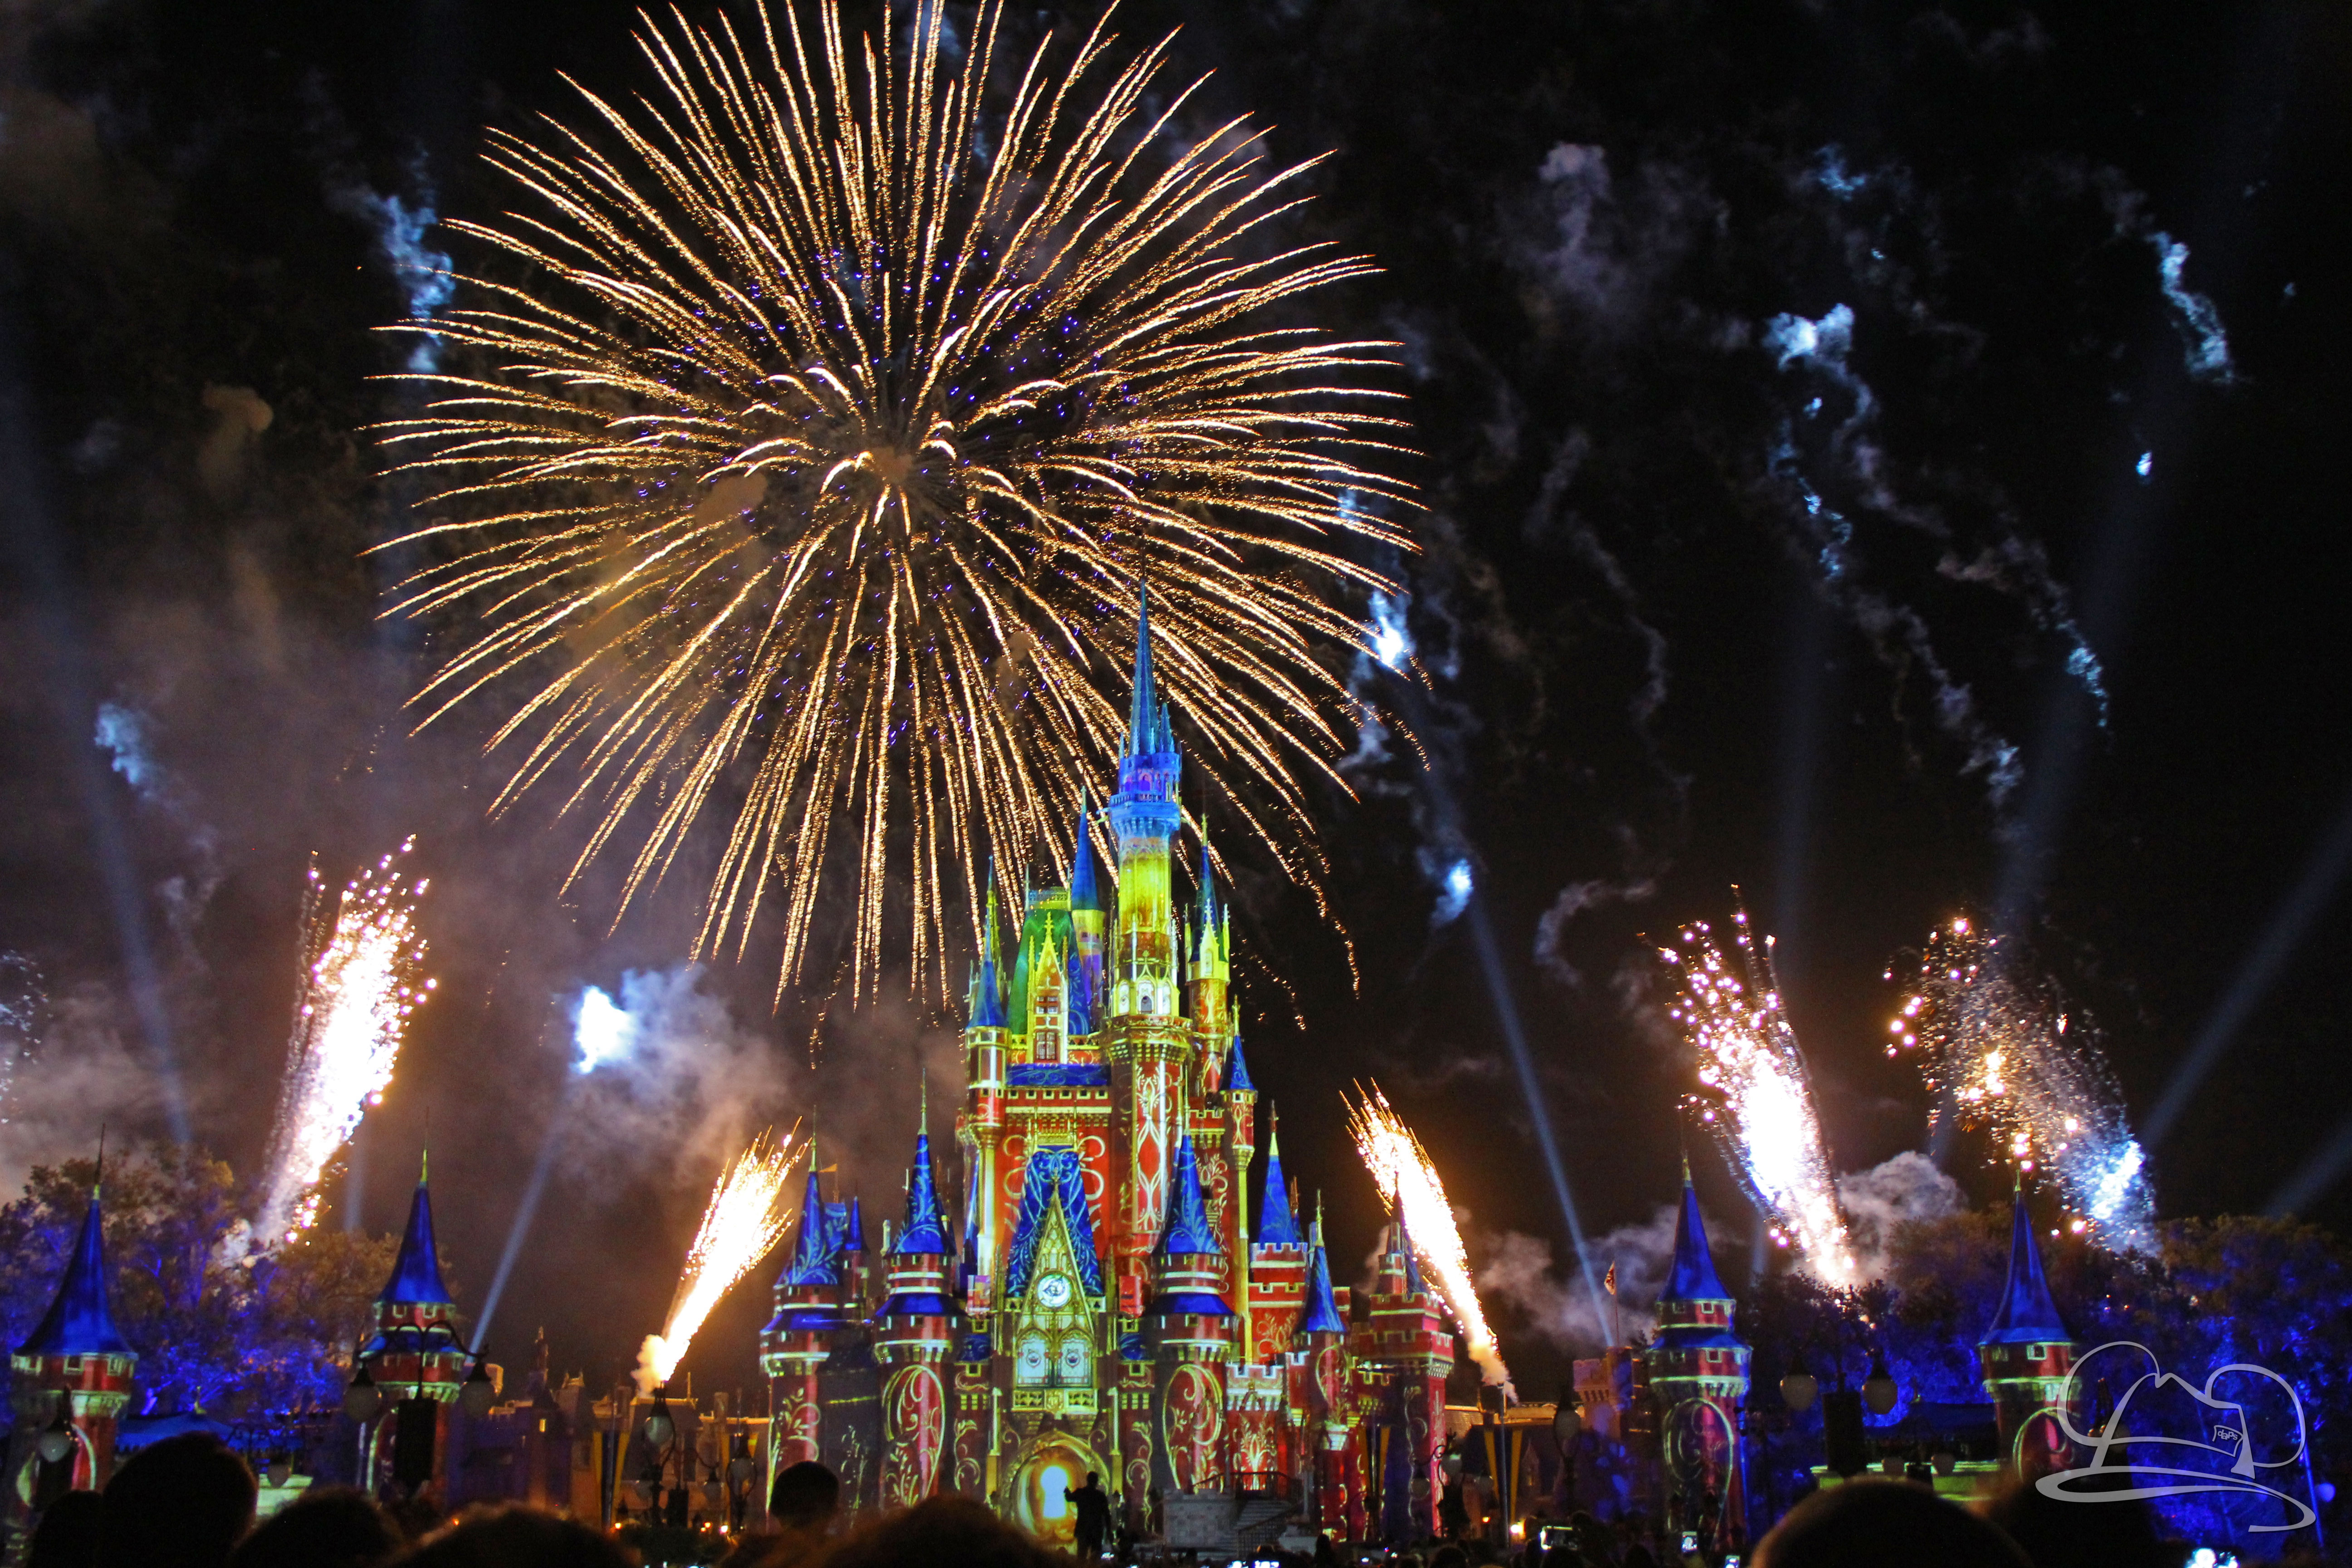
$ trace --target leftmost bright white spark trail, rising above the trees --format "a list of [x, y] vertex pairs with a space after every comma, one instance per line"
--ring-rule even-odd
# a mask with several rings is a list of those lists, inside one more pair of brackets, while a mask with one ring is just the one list
[[318, 1220], [327, 1166], [383, 1098], [409, 1013], [433, 992], [421, 976], [426, 938], [416, 931], [426, 882], [400, 877], [400, 860], [414, 846], [409, 839], [353, 877], [332, 922], [318, 865], [308, 872], [294, 1034], [254, 1218], [261, 1251]]

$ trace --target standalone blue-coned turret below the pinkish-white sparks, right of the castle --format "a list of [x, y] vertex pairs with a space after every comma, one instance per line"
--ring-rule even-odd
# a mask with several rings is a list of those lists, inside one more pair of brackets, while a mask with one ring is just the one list
[[1715, 1274], [1708, 1227], [1698, 1215], [1691, 1166], [1682, 1166], [1682, 1215], [1675, 1220], [1675, 1267], [1658, 1295], [1658, 1338], [1649, 1349], [1649, 1389], [1658, 1401], [1668, 1516], [1698, 1528], [1708, 1493], [1722, 1509], [1724, 1540], [1745, 1540], [1748, 1497], [1740, 1474], [1740, 1401], [1748, 1396], [1748, 1345], [1731, 1335], [1731, 1293]]

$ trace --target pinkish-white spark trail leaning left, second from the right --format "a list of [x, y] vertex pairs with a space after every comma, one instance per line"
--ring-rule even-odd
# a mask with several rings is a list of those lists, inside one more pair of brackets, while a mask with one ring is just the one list
[[1780, 1004], [1771, 938], [1759, 952], [1745, 910], [1733, 924], [1738, 969], [1705, 924], [1684, 926], [1679, 950], [1658, 950], [1682, 973], [1682, 997], [1668, 1016], [1698, 1051], [1700, 1086], [1684, 1105], [1715, 1131], [1748, 1194], [1773, 1218], [1773, 1239], [1795, 1244], [1823, 1281], [1851, 1286], [1853, 1239], [1837, 1206], [1804, 1051]]

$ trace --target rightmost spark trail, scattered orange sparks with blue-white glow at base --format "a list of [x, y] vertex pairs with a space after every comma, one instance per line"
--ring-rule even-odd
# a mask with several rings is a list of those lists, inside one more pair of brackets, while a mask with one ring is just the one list
[[1938, 1100], [1950, 1091], [1962, 1126], [2056, 1182], [2077, 1232], [2114, 1251], [2154, 1248], [2147, 1154], [2096, 1030], [2020, 976], [2002, 938], [1964, 917], [1938, 926], [1889, 1037], [1886, 1053], [1917, 1056]]

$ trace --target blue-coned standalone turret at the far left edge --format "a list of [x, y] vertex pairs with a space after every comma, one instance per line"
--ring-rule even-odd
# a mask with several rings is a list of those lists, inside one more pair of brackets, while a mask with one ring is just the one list
[[[99, 1192], [101, 1182], [92, 1182], [89, 1208], [47, 1316], [9, 1359], [16, 1413], [7, 1465], [14, 1481], [7, 1509], [14, 1526], [9, 1561], [24, 1556], [31, 1514], [61, 1493], [101, 1490], [115, 1474], [115, 1420], [129, 1401], [139, 1354], [115, 1331]], [[71, 1446], [61, 1458], [47, 1460], [40, 1455], [40, 1439], [61, 1418]]]

